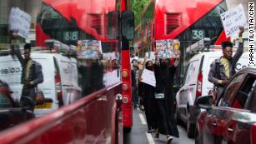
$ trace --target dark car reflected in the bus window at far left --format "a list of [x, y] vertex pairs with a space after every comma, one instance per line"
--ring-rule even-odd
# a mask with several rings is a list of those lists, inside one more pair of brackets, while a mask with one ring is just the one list
[[0, 131], [33, 119], [35, 116], [29, 110], [31, 107], [32, 101], [28, 97], [23, 97], [22, 107], [18, 107], [11, 97], [8, 84], [0, 81]]

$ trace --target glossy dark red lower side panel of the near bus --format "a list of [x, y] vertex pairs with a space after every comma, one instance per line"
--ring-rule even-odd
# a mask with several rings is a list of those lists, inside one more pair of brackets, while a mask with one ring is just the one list
[[[58, 111], [8, 129], [1, 144], [115, 143], [118, 103], [113, 93], [121, 93], [120, 83], [95, 92]], [[121, 135], [119, 135], [121, 136]], [[123, 137], [118, 137], [120, 141]]]

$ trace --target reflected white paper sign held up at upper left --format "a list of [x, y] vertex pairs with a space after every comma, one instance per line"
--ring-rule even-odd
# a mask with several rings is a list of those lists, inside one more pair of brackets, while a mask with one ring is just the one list
[[12, 7], [9, 17], [9, 30], [13, 35], [28, 38], [31, 16], [20, 10], [18, 7]]

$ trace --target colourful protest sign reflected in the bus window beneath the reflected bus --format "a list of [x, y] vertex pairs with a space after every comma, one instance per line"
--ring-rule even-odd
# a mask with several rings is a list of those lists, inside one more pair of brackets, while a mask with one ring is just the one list
[[79, 58], [100, 59], [103, 53], [102, 44], [97, 40], [83, 40], [82, 48], [78, 52]]

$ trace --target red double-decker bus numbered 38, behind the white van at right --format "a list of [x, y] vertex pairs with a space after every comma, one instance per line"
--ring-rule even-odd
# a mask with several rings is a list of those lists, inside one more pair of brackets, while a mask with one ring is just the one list
[[194, 42], [210, 37], [212, 44], [219, 44], [227, 38], [219, 16], [226, 10], [225, 0], [151, 0], [135, 29], [138, 51], [153, 51], [156, 40], [178, 39], [185, 61], [185, 48]]

